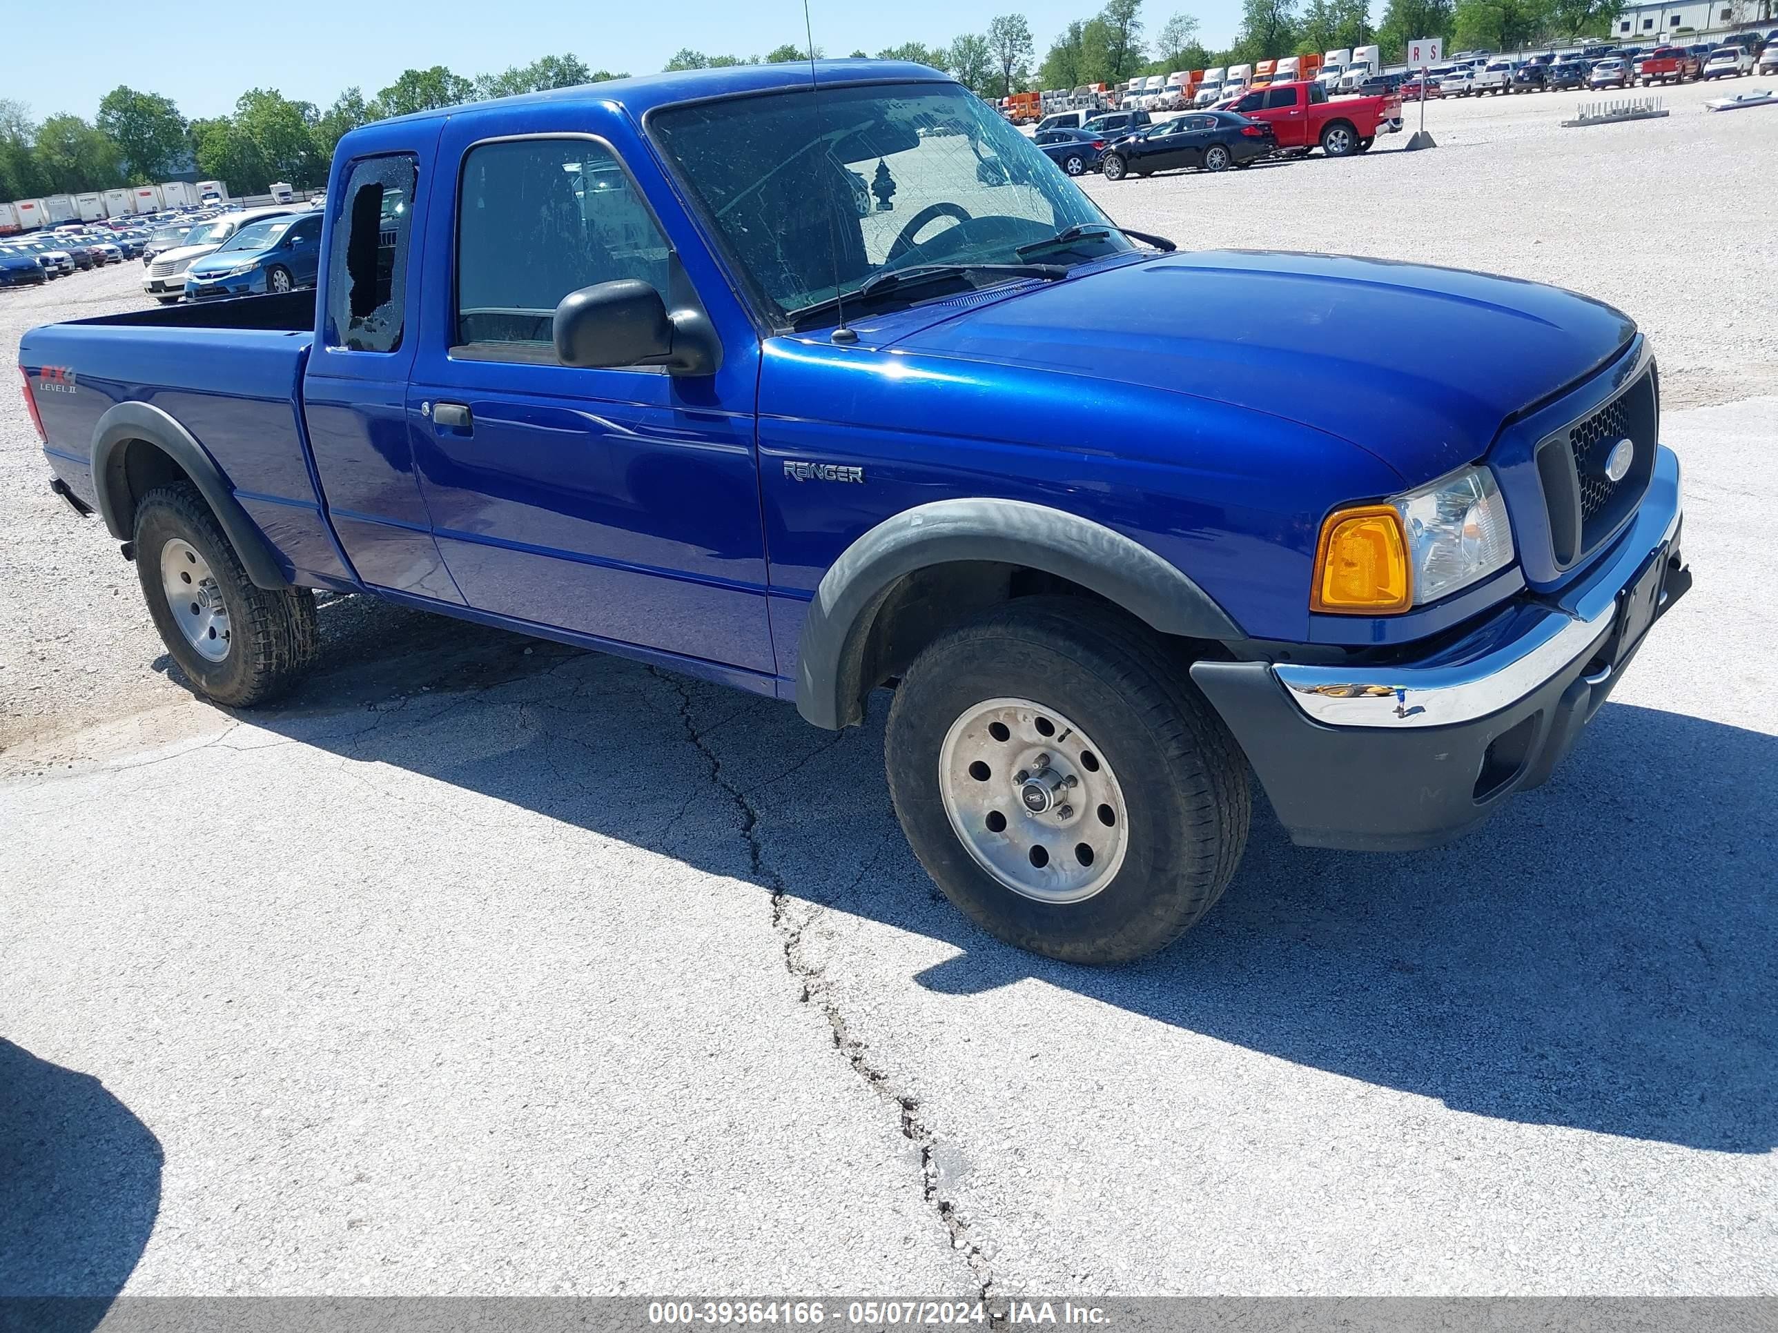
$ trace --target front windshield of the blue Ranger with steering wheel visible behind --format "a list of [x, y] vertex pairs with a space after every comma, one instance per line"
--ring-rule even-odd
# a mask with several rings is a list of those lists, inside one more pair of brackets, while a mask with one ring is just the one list
[[[1021, 245], [1076, 224], [1104, 229], [1045, 263], [1131, 249], [1029, 139], [953, 84], [708, 101], [658, 112], [649, 130], [781, 320], [889, 268], [1017, 265]], [[980, 274], [996, 281], [1006, 274]]]

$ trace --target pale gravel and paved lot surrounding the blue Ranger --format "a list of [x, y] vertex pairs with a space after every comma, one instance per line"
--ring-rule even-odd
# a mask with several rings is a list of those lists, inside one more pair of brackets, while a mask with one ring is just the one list
[[[880, 706], [834, 738], [363, 599], [292, 706], [192, 700], [0, 396], [0, 1294], [1778, 1294], [1778, 108], [1719, 91], [1088, 183], [1186, 245], [1622, 304], [1698, 576], [1485, 834], [1261, 816], [1140, 967], [935, 901]], [[0, 355], [137, 279], [0, 293]]]

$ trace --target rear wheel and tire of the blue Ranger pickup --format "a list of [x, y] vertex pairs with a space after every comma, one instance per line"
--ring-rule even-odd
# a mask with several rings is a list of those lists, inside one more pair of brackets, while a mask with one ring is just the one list
[[[185, 565], [201, 578], [192, 581]], [[256, 588], [188, 482], [149, 491], [137, 505], [135, 572], [160, 642], [199, 693], [217, 704], [270, 702], [315, 661], [315, 595], [308, 588]], [[172, 606], [172, 585], [181, 587], [180, 611]], [[183, 615], [187, 585], [199, 597], [190, 603], [192, 619]], [[220, 615], [213, 610], [217, 603]]]

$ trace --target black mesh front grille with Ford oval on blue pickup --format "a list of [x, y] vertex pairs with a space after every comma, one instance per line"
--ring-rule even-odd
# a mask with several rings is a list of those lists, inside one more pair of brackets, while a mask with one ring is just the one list
[[[1645, 364], [1616, 396], [1538, 444], [1538, 478], [1549, 505], [1550, 553], [1568, 569], [1607, 540], [1648, 489], [1659, 444], [1655, 370]], [[1630, 441], [1630, 466], [1618, 480], [1606, 467]]]

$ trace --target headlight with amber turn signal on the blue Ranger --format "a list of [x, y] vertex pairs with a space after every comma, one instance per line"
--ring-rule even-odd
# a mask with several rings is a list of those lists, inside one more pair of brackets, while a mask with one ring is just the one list
[[1465, 467], [1321, 524], [1310, 608], [1346, 615], [1406, 611], [1513, 563], [1506, 501], [1486, 467]]

